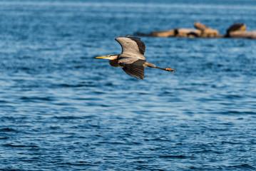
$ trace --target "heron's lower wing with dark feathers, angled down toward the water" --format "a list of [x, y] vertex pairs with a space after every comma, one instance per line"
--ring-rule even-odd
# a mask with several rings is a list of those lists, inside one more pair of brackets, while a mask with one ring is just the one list
[[143, 66], [145, 60], [138, 59], [136, 61], [133, 61], [133, 63], [126, 63], [126, 60], [128, 60], [128, 58], [118, 61], [123, 71], [125, 71], [129, 76], [133, 76], [135, 78], [143, 80], [143, 78], [145, 78]]

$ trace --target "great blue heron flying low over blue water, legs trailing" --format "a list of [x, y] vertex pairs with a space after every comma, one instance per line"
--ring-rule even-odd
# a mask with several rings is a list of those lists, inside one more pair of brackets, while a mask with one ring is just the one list
[[175, 72], [171, 68], [159, 68], [153, 63], [145, 60], [145, 44], [140, 38], [135, 37], [118, 37], [115, 39], [122, 46], [122, 53], [119, 55], [97, 56], [96, 58], [109, 59], [113, 67], [121, 67], [129, 76], [138, 79], [145, 78], [144, 67], [158, 68], [165, 71]]

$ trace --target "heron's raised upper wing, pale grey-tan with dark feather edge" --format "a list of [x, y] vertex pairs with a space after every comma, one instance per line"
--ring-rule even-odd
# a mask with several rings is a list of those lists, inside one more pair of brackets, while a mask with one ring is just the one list
[[140, 38], [118, 37], [115, 39], [122, 46], [122, 53], [130, 58], [145, 59], [145, 44]]

